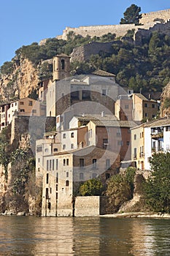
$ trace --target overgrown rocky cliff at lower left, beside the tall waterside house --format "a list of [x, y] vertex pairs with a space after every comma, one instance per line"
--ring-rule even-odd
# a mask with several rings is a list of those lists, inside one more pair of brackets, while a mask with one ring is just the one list
[[31, 214], [40, 215], [42, 189], [36, 184], [34, 154], [28, 146], [20, 148], [18, 138], [11, 144], [10, 131], [9, 125], [0, 134], [0, 163], [4, 167], [6, 187], [0, 209], [28, 213], [32, 200]]

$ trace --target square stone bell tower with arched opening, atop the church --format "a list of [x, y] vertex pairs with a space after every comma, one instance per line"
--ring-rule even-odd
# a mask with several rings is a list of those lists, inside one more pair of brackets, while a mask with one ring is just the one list
[[70, 76], [70, 57], [60, 54], [53, 57], [53, 81], [62, 80]]

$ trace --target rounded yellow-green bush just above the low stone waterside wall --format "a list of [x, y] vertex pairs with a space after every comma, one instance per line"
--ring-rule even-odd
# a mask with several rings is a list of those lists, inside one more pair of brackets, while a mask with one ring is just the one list
[[88, 181], [85, 181], [80, 186], [80, 195], [101, 195], [101, 192], [103, 192], [103, 185], [101, 183], [101, 180], [98, 178], [92, 178]]

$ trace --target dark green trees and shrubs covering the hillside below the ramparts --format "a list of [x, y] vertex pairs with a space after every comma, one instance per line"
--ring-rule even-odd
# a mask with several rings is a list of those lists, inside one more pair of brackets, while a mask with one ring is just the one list
[[[9, 77], [15, 67], [20, 67], [23, 58], [30, 60], [38, 74], [38, 78], [46, 79], [52, 77], [53, 56], [60, 53], [70, 54], [72, 50], [89, 42], [110, 42], [112, 50], [110, 53], [104, 51], [91, 55], [90, 60], [71, 64], [71, 75], [89, 74], [95, 69], [103, 69], [116, 75], [117, 82], [121, 86], [128, 86], [134, 91], [161, 91], [170, 80], [170, 61], [167, 59], [170, 53], [170, 37], [165, 34], [152, 32], [149, 37], [142, 38], [142, 45], [136, 45], [134, 31], [127, 31], [122, 39], [117, 40], [115, 34], [105, 34], [102, 37], [82, 37], [70, 31], [68, 39], [47, 39], [42, 45], [34, 42], [16, 50], [15, 58], [5, 62], [0, 69], [0, 77]], [[15, 73], [14, 73], [15, 74]], [[18, 74], [10, 78], [7, 85], [8, 102], [15, 95], [12, 86], [16, 85]], [[5, 91], [5, 89], [3, 89]]]

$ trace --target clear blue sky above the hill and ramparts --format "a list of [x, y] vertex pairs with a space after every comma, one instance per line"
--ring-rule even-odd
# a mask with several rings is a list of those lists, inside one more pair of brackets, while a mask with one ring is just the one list
[[119, 24], [131, 4], [142, 12], [170, 9], [169, 0], [0, 0], [0, 66], [18, 48], [62, 34], [66, 26]]

